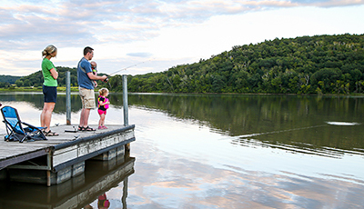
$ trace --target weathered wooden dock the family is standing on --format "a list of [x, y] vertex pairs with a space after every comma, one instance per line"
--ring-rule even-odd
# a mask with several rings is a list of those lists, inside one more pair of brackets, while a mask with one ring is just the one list
[[[96, 125], [90, 125], [96, 127]], [[107, 125], [95, 132], [70, 133], [73, 125], [52, 127], [58, 136], [35, 142], [5, 142], [0, 135], [0, 179], [36, 184], [61, 184], [83, 174], [88, 159], [111, 160], [135, 141], [135, 125]]]

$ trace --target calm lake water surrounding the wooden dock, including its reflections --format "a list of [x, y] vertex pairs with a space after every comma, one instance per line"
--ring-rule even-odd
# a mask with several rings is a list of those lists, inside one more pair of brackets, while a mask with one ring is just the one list
[[[123, 124], [122, 95], [109, 98], [106, 125]], [[136, 124], [134, 172], [107, 189], [109, 208], [363, 208], [363, 96], [128, 98], [129, 124]], [[23, 121], [39, 124], [43, 95], [3, 93], [0, 101], [17, 108]], [[78, 95], [72, 104], [72, 124], [78, 124]], [[58, 95], [52, 124], [66, 124], [65, 112], [66, 96]], [[89, 124], [97, 121], [95, 110]], [[95, 164], [94, 171], [86, 164], [86, 176], [99, 169]], [[0, 196], [14, 194], [6, 198], [26, 208], [49, 203], [26, 204], [26, 194], [16, 196], [22, 188], [45, 192], [46, 186], [2, 186]], [[88, 204], [97, 208], [97, 198]]]

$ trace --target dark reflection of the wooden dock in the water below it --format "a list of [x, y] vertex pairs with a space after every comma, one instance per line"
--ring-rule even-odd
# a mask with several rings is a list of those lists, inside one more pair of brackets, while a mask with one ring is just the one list
[[122, 182], [120, 201], [126, 208], [127, 178], [134, 174], [134, 163], [135, 158], [130, 157], [125, 162], [124, 157], [108, 162], [87, 161], [86, 166], [90, 166], [85, 174], [48, 188], [38, 184], [2, 184], [0, 208], [83, 208]]

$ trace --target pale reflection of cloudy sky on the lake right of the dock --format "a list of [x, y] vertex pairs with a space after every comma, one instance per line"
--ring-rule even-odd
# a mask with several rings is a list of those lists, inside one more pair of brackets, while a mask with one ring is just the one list
[[[359, 208], [364, 204], [364, 174], [358, 169], [362, 156], [346, 154], [338, 159], [266, 144], [234, 146], [218, 134], [200, 137], [205, 128], [167, 125], [172, 120], [157, 119], [156, 125], [147, 125], [146, 134], [137, 134], [134, 144], [142, 163], [131, 179], [132, 208]], [[169, 139], [163, 138], [166, 133], [156, 133], [167, 127], [175, 132], [167, 133]]]

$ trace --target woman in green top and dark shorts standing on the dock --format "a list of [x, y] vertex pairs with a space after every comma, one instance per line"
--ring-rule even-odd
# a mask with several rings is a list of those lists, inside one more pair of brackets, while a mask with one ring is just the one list
[[43, 95], [45, 104], [43, 106], [42, 114], [40, 114], [40, 124], [45, 128], [45, 136], [55, 136], [58, 135], [51, 132], [51, 118], [53, 109], [56, 105], [56, 87], [58, 85], [56, 79], [58, 78], [58, 73], [56, 72], [56, 67], [51, 62], [52, 57], [56, 57], [57, 49], [54, 45], [48, 45], [42, 52], [42, 74], [45, 79], [43, 83]]

